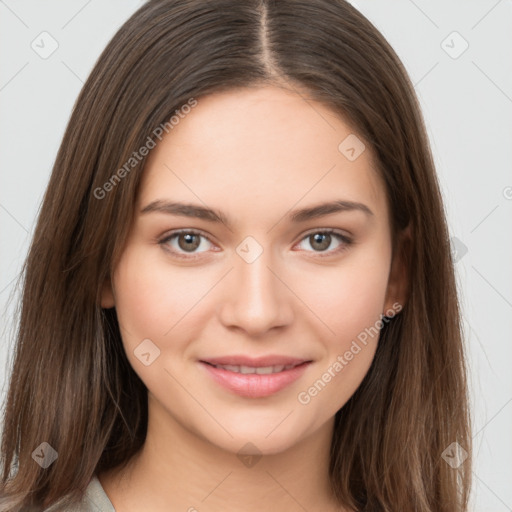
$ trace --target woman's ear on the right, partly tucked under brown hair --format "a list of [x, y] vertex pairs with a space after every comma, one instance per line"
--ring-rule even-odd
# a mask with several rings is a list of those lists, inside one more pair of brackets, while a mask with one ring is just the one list
[[395, 303], [400, 304], [400, 310], [407, 302], [409, 282], [409, 264], [412, 249], [412, 227], [411, 223], [402, 231], [397, 233], [396, 250], [393, 254], [393, 261], [388, 278], [386, 299], [384, 301], [384, 315], [386, 311], [396, 310]]

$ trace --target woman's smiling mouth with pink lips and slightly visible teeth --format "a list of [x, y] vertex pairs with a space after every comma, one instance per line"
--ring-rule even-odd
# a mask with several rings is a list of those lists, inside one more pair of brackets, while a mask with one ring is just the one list
[[[245, 364], [240, 363], [240, 360]], [[269, 364], [275, 363], [277, 364]], [[264, 398], [290, 386], [298, 380], [313, 363], [311, 360], [283, 357], [244, 357], [201, 360], [199, 364], [209, 377], [222, 388], [246, 398]]]

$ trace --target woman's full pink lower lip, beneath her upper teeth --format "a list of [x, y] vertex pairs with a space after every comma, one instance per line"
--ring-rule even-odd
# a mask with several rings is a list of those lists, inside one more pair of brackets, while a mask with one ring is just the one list
[[201, 361], [201, 365], [221, 386], [237, 395], [249, 398], [263, 398], [281, 391], [301, 377], [310, 364], [311, 361], [302, 363], [290, 370], [260, 375], [257, 373], [230, 372]]

